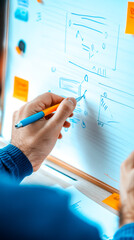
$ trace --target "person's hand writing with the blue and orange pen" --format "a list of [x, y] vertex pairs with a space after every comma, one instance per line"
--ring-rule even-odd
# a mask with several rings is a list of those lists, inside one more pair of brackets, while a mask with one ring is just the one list
[[[15, 128], [15, 124], [20, 120], [58, 103], [61, 104], [55, 114], [46, 116], [26, 127]], [[75, 107], [76, 100], [74, 98], [64, 99], [52, 93], [45, 93], [14, 113], [11, 144], [18, 147], [27, 156], [33, 166], [33, 171], [39, 169], [57, 139], [62, 138], [62, 127], [70, 127], [70, 123], [66, 119], [72, 116]]]

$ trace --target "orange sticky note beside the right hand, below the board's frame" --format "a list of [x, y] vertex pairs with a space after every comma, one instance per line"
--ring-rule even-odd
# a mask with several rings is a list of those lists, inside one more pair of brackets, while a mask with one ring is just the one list
[[118, 211], [120, 206], [120, 195], [118, 193], [113, 193], [102, 202]]

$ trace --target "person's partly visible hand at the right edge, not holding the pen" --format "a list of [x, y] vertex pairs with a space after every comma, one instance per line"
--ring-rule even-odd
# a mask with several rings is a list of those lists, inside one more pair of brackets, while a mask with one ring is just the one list
[[120, 227], [134, 222], [134, 152], [121, 165]]

